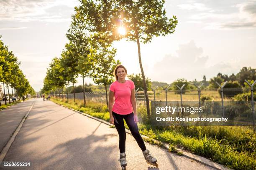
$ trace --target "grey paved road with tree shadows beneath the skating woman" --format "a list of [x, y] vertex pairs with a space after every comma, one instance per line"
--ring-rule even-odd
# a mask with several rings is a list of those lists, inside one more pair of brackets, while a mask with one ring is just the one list
[[[8, 138], [33, 108], [11, 145], [5, 162], [29, 162], [31, 170], [120, 170], [118, 133], [96, 120], [54, 104], [32, 99], [0, 111], [0, 134]], [[16, 110], [16, 113], [15, 113]], [[8, 120], [9, 117], [9, 120]], [[12, 128], [9, 128], [12, 126]], [[9, 130], [10, 129], [10, 130]], [[6, 139], [1, 138], [1, 143]], [[3, 144], [2, 144], [3, 147]], [[127, 134], [127, 170], [212, 170], [183, 156], [146, 143], [157, 158], [159, 167], [146, 163], [133, 137]], [[1, 149], [1, 148], [0, 148]], [[5, 170], [7, 168], [0, 168]]]

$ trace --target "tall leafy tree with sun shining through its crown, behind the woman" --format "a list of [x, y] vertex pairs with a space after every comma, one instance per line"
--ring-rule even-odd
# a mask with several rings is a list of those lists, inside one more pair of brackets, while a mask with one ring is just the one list
[[[173, 16], [168, 19], [163, 7], [164, 0], [82, 0], [82, 5], [75, 7], [75, 16], [80, 20], [79, 23], [83, 25], [84, 30], [105, 32], [112, 40], [126, 38], [137, 43], [148, 118], [150, 109], [140, 43], [151, 42], [154, 36], [174, 33], [177, 18]], [[118, 34], [118, 28], [126, 29], [126, 34]]]

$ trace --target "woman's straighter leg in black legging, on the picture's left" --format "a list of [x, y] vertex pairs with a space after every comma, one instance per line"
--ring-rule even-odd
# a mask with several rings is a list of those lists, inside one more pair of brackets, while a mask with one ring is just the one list
[[112, 114], [115, 119], [114, 125], [119, 135], [119, 150], [120, 150], [120, 153], [125, 153], [126, 133], [125, 133], [125, 127], [123, 124], [123, 115], [119, 115], [115, 112], [112, 112]]

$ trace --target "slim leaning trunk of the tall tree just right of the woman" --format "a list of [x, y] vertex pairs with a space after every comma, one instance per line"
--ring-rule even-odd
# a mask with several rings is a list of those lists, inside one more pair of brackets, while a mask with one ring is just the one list
[[137, 37], [137, 46], [138, 46], [138, 57], [139, 57], [139, 62], [140, 62], [140, 67], [141, 67], [141, 75], [142, 75], [143, 84], [144, 84], [144, 95], [146, 97], [147, 115], [148, 115], [148, 119], [149, 119], [150, 118], [150, 109], [149, 109], [149, 100], [148, 100], [148, 89], [147, 89], [146, 79], [145, 79], [145, 75], [144, 75], [144, 71], [143, 71], [143, 67], [142, 67], [142, 63], [141, 63], [141, 47], [140, 47], [140, 40], [138, 39], [138, 37]]

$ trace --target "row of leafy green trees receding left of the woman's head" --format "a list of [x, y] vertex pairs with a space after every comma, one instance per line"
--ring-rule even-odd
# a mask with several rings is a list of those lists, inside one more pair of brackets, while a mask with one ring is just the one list
[[[44, 78], [44, 87], [42, 93], [52, 93], [56, 90], [64, 93], [70, 92], [69, 84], [73, 85], [72, 92], [75, 89], [74, 83], [77, 77], [83, 79], [82, 91], [84, 92], [84, 106], [86, 105], [85, 91], [90, 91], [84, 85], [84, 77], [92, 77], [93, 81], [98, 85], [104, 85], [106, 102], [108, 105], [107, 86], [113, 82], [113, 72], [116, 65], [120, 64], [115, 61], [116, 49], [113, 48], [112, 42], [104, 34], [88, 33], [81, 30], [77, 23], [75, 15], [72, 16], [72, 24], [66, 34], [69, 43], [62, 50], [61, 57], [54, 57], [49, 68], [47, 68], [46, 77]], [[57, 97], [58, 95], [56, 95]], [[67, 100], [68, 95], [67, 95]]]

